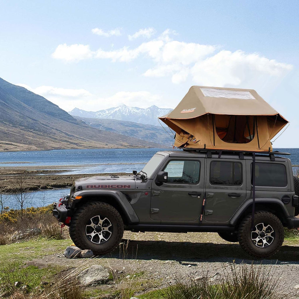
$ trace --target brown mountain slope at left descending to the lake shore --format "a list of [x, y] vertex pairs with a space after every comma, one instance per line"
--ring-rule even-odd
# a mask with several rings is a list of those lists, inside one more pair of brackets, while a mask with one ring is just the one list
[[92, 128], [44, 97], [0, 78], [0, 151], [161, 147]]

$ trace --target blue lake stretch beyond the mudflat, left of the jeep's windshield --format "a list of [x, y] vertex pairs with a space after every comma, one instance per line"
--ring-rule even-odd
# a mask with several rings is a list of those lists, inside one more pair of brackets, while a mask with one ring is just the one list
[[34, 152], [0, 152], [0, 167], [78, 166], [60, 174], [131, 173], [141, 170], [152, 155], [165, 149], [58, 149]]

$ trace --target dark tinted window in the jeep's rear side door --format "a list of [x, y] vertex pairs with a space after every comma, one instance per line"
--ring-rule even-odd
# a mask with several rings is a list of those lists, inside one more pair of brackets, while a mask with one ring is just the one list
[[213, 185], [241, 185], [242, 164], [239, 162], [212, 161], [210, 183]]

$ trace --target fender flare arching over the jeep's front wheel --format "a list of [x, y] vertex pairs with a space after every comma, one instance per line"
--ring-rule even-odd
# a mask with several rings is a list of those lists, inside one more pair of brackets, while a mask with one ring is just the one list
[[[126, 199], [126, 196], [123, 195], [120, 191], [114, 191], [114, 190], [82, 190], [82, 191], [77, 191], [74, 193], [72, 196], [75, 198], [76, 196], [82, 196], [81, 199], [74, 199], [76, 202], [76, 205], [79, 202], [84, 201], [84, 197], [86, 196], [93, 196], [93, 197], [101, 197], [101, 196], [112, 196], [120, 205], [120, 208], [122, 209], [122, 212], [125, 214], [127, 217], [128, 221], [130, 223], [138, 223], [139, 218], [136, 215], [134, 209], [132, 208], [131, 204], [128, 202]], [[109, 203], [109, 202], [108, 202]]]

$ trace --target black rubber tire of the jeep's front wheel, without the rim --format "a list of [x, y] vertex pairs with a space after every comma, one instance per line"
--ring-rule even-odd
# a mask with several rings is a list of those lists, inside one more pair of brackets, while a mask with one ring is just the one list
[[[95, 244], [88, 239], [86, 225], [95, 216], [107, 217], [112, 225], [112, 234], [103, 244]], [[87, 202], [76, 210], [71, 218], [70, 236], [74, 244], [81, 249], [91, 249], [94, 254], [111, 252], [123, 237], [123, 220], [118, 211], [105, 202]]]

